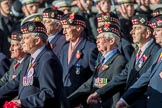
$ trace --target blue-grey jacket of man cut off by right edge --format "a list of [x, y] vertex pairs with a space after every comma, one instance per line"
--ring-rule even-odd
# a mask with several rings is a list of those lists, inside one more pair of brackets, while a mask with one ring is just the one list
[[131, 105], [139, 96], [146, 92], [147, 108], [161, 108], [162, 106], [162, 60], [158, 62], [160, 49], [154, 56], [153, 64], [144, 73], [140, 79], [131, 86], [122, 96], [122, 98]]

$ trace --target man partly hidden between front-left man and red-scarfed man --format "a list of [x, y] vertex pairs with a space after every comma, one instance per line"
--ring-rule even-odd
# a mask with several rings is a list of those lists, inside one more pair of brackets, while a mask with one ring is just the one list
[[60, 56], [60, 49], [62, 49], [66, 43], [65, 36], [62, 34], [62, 26], [60, 23], [60, 19], [63, 14], [64, 13], [57, 10], [56, 7], [46, 8], [42, 14], [42, 22], [47, 29], [48, 42], [57, 57]]

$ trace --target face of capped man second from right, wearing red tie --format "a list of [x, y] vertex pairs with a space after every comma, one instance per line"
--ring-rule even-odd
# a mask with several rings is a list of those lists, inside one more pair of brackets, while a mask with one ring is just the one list
[[136, 44], [141, 43], [145, 40], [146, 27], [142, 25], [133, 25], [130, 34], [133, 37], [133, 42]]

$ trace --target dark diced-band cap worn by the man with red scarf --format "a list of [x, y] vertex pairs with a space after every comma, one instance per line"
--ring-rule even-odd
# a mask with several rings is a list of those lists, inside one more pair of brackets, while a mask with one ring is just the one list
[[86, 20], [81, 15], [75, 13], [67, 14], [61, 19], [62, 25], [81, 25], [86, 28]]

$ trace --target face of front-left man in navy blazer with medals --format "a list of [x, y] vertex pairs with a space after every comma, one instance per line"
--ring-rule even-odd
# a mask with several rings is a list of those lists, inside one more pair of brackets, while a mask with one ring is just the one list
[[32, 54], [35, 42], [36, 39], [32, 36], [32, 33], [23, 34], [21, 40], [23, 51]]

